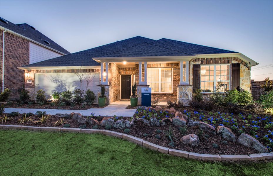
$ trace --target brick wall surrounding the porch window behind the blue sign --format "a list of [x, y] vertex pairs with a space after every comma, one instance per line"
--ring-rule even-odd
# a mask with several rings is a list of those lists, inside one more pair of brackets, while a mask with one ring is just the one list
[[[179, 63], [147, 64], [147, 68], [172, 68], [172, 93], [152, 93], [152, 101], [158, 99], [160, 102], [177, 101], [177, 85], [180, 82]], [[139, 64], [135, 64], [135, 80], [139, 82]], [[142, 64], [142, 80], [144, 80], [144, 64]]]

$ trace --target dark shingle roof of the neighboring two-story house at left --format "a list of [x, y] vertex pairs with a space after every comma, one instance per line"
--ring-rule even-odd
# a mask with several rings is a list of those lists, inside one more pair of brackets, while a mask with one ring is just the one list
[[[6, 20], [7, 21], [7, 20]], [[46, 45], [50, 48], [53, 48], [61, 53], [64, 54], [70, 54], [67, 50], [65, 50], [63, 47], [61, 47], [60, 45], [58, 45], [55, 42], [52, 42], [52, 40], [50, 38], [48, 38], [47, 36], [43, 35], [41, 32], [39, 32], [37, 29], [33, 29], [31, 28], [31, 26], [27, 23], [23, 23], [23, 24], [14, 24], [11, 23], [10, 21], [8, 21], [8, 23], [4, 23], [2, 21], [0, 21], [0, 26], [9, 29], [11, 31], [14, 31], [20, 35], [23, 35], [27, 38], [30, 38], [38, 43], [41, 43], [43, 45]], [[26, 29], [26, 30], [25, 30]], [[42, 40], [40, 39], [40, 37], [42, 38]], [[50, 44], [45, 43], [43, 40], [48, 41]]]

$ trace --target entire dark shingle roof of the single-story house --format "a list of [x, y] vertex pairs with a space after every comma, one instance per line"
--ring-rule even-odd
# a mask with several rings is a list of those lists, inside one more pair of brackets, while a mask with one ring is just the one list
[[94, 57], [190, 56], [195, 54], [218, 53], [237, 52], [165, 38], [153, 40], [137, 36], [77, 53], [26, 65], [26, 67], [99, 66], [100, 63], [92, 59]]

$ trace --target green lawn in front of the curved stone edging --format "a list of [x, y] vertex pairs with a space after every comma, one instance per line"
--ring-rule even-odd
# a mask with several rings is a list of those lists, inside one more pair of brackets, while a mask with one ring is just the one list
[[0, 175], [273, 175], [273, 163], [208, 163], [99, 134], [0, 130]]

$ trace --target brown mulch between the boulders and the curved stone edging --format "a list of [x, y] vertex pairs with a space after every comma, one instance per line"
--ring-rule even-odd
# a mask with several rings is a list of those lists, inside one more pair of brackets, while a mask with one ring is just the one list
[[[6, 114], [8, 115], [8, 114]], [[20, 125], [18, 123], [18, 119], [20, 119], [22, 116], [20, 114], [20, 116], [15, 116], [15, 117], [11, 117], [9, 121], [2, 122], [0, 120], [0, 124], [9, 124], [9, 125]], [[33, 115], [32, 116], [33, 121], [37, 121], [38, 120], [38, 116], [37, 115]], [[97, 116], [97, 117], [93, 117], [95, 119], [97, 119], [99, 122], [102, 120], [103, 117], [101, 116]], [[23, 125], [24, 126], [53, 126], [53, 124], [59, 120], [60, 118], [58, 118], [55, 115], [52, 115], [50, 117], [50, 119], [44, 123], [36, 123], [34, 124], [34, 122], [25, 122]], [[131, 120], [132, 118], [130, 117], [123, 117], [123, 119], [126, 120]], [[70, 128], [79, 128], [79, 126], [81, 125], [80, 123], [76, 122], [73, 119], [65, 119], [66, 123], [70, 124]], [[56, 127], [62, 127], [62, 125], [56, 126]], [[92, 126], [87, 125], [86, 128], [92, 128]], [[157, 145], [161, 145], [164, 147], [168, 147], [168, 148], [173, 148], [173, 149], [178, 149], [178, 150], [185, 150], [185, 151], [189, 151], [189, 152], [195, 152], [195, 153], [205, 153], [205, 154], [219, 154], [219, 155], [223, 155], [223, 154], [254, 154], [254, 153], [259, 153], [257, 150], [254, 150], [252, 148], [248, 148], [245, 147], [243, 145], [240, 145], [239, 143], [234, 143], [234, 142], [230, 142], [228, 141], [228, 144], [225, 145], [222, 143], [222, 138], [220, 136], [217, 135], [213, 135], [213, 134], [209, 134], [209, 133], [203, 133], [201, 138], [200, 138], [200, 145], [198, 147], [192, 148], [189, 145], [184, 145], [182, 144], [179, 140], [180, 138], [182, 138], [182, 134], [180, 134], [180, 130], [178, 129], [178, 126], [171, 126], [171, 129], [173, 131], [173, 141], [175, 143], [175, 146], [172, 147], [169, 145], [170, 140], [168, 140], [167, 137], [165, 137], [165, 132], [168, 131], [170, 128], [169, 125], [165, 125], [165, 126], [160, 126], [160, 127], [149, 127], [146, 126], [144, 128], [138, 128], [138, 127], [132, 127], [130, 128], [131, 131], [129, 132], [129, 135], [138, 137], [138, 138], [142, 138], [146, 141], [155, 143]], [[103, 127], [99, 126], [99, 129], [104, 129]], [[156, 130], [161, 130], [161, 133], [156, 133]], [[117, 131], [120, 133], [124, 133], [123, 130], [117, 129], [117, 128], [112, 128], [110, 129], [112, 131]], [[148, 134], [148, 136], [143, 136], [145, 133]], [[193, 128], [188, 128], [186, 135], [187, 134], [198, 134], [199, 130], [198, 129], [193, 129]], [[157, 139], [155, 138], [155, 135], [160, 135], [161, 139]], [[205, 134], [210, 135], [210, 137], [205, 138]], [[235, 134], [238, 137], [238, 134]], [[217, 145], [219, 145], [218, 148], [213, 148], [212, 144], [216, 143]]]

